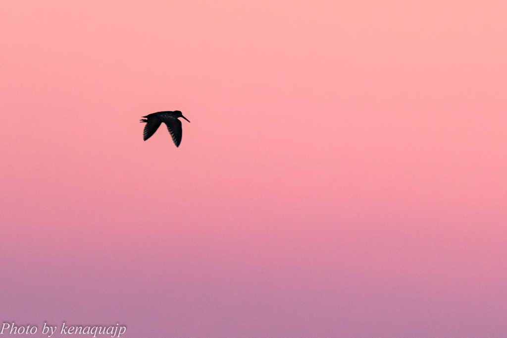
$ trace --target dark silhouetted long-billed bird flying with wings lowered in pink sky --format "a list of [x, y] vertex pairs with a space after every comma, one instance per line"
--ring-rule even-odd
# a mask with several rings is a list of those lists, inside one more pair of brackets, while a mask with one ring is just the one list
[[185, 120], [189, 121], [179, 110], [175, 110], [174, 112], [157, 112], [143, 116], [141, 122], [146, 123], [144, 131], [142, 132], [143, 140], [148, 140], [155, 131], [157, 131], [160, 124], [164, 122], [167, 125], [167, 130], [169, 130], [171, 134], [172, 141], [174, 141], [176, 147], [179, 147], [179, 144], [182, 142], [182, 122], [178, 120], [178, 117], [183, 117]]

